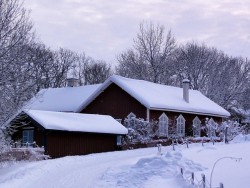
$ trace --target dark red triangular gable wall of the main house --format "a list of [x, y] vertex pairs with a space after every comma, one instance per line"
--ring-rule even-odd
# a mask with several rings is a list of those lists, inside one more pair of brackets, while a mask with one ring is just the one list
[[146, 107], [116, 84], [111, 84], [81, 113], [111, 115], [116, 119], [124, 119], [130, 112], [146, 119]]

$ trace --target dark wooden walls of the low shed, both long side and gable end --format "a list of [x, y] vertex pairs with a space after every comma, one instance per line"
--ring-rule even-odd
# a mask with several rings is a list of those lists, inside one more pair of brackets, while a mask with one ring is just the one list
[[[31, 118], [27, 118], [31, 120]], [[43, 146], [45, 154], [51, 158], [108, 152], [117, 149], [117, 135], [115, 134], [46, 130], [34, 120], [30, 121], [28, 126], [19, 127], [12, 139], [21, 141], [25, 128], [34, 130], [34, 141], [39, 147]]]

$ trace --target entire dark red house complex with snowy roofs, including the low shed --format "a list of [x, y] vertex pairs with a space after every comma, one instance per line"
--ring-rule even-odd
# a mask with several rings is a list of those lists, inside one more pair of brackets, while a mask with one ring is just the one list
[[[34, 110], [40, 110], [35, 117], [32, 115]], [[44, 113], [49, 115], [43, 116]], [[52, 157], [110, 151], [114, 149], [116, 136], [125, 134], [124, 130], [115, 133], [81, 130], [81, 123], [86, 119], [79, 117], [85, 114], [109, 115], [121, 122], [127, 116], [154, 120], [158, 122], [157, 135], [164, 138], [169, 137], [170, 130], [175, 130], [178, 137], [200, 136], [200, 127], [205, 121], [213, 125], [230, 116], [199, 91], [190, 90], [188, 80], [183, 81], [183, 88], [178, 88], [115, 75], [99, 85], [42, 90], [25, 107], [25, 114], [25, 121], [30, 122], [14, 138], [26, 139], [29, 137], [26, 130], [33, 127], [34, 141], [44, 145]], [[54, 119], [47, 127], [44, 122], [48, 116], [50, 120], [53, 116], [61, 118]], [[64, 116], [68, 118], [64, 119]], [[52, 126], [54, 123], [56, 127]], [[67, 129], [62, 128], [65, 123]], [[72, 126], [77, 129], [72, 131]], [[112, 127], [104, 120], [91, 126], [99, 129]], [[212, 130], [208, 132], [208, 136], [214, 134]], [[107, 143], [107, 146], [102, 149], [101, 143]]]

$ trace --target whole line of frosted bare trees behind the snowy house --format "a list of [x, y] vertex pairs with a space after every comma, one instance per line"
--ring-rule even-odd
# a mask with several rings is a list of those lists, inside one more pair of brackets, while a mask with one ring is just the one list
[[35, 35], [19, 0], [0, 1], [0, 125], [39, 90], [64, 87], [67, 77], [79, 85], [102, 83], [112, 74], [191, 88], [222, 105], [250, 108], [250, 63], [194, 41], [178, 44], [169, 30], [143, 22], [131, 48], [114, 69], [103, 60], [70, 49], [52, 50]]

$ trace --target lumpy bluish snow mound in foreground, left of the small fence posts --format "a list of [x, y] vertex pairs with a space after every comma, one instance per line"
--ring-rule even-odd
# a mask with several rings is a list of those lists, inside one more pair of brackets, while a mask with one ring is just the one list
[[179, 184], [181, 182], [180, 168], [183, 168], [185, 173], [206, 169], [200, 164], [185, 159], [181, 152], [171, 151], [167, 152], [165, 156], [141, 158], [134, 165], [108, 169], [96, 187], [103, 185], [108, 185], [107, 187], [148, 187], [159, 178], [172, 180]]

